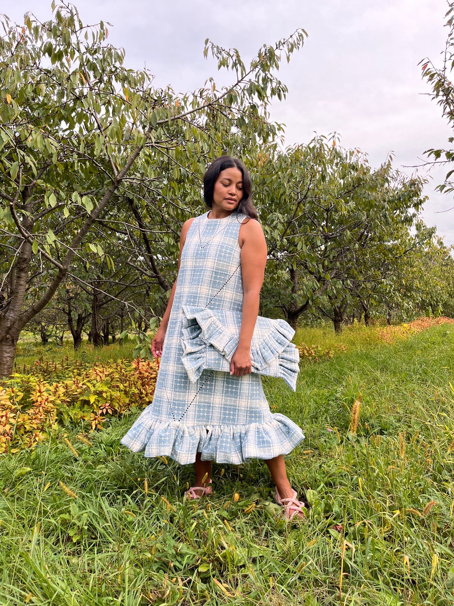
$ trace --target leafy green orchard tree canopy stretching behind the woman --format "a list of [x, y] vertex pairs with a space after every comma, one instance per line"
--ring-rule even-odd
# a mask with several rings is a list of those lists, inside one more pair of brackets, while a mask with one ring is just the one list
[[145, 355], [180, 228], [203, 211], [203, 173], [223, 154], [254, 183], [269, 250], [262, 313], [331, 318], [340, 331], [361, 316], [452, 308], [451, 251], [419, 219], [422, 179], [391, 157], [374, 169], [336, 137], [283, 149], [269, 104], [285, 99], [280, 62], [304, 30], [249, 64], [207, 39], [232, 84], [209, 78], [177, 95], [125, 67], [104, 22], [84, 25], [72, 5], [53, 5], [46, 22], [1, 21], [0, 376], [24, 327], [46, 340], [67, 324], [74, 347], [84, 332], [101, 345], [133, 327]]

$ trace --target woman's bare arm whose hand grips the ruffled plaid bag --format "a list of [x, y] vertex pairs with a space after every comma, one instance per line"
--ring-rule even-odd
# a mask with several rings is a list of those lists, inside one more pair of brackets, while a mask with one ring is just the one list
[[262, 226], [249, 219], [240, 227], [241, 271], [243, 278], [243, 319], [240, 341], [232, 356], [230, 374], [235, 377], [249, 375], [251, 365], [251, 341], [257, 322], [260, 290], [266, 265], [266, 242]]

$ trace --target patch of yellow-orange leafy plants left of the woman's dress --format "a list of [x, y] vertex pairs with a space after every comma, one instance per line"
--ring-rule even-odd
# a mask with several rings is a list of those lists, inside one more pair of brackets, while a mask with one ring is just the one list
[[30, 374], [15, 373], [0, 383], [0, 452], [33, 447], [55, 425], [102, 428], [108, 415], [150, 404], [157, 378], [156, 363], [142, 359], [90, 368], [62, 364], [58, 381], [49, 370], [38, 361]]

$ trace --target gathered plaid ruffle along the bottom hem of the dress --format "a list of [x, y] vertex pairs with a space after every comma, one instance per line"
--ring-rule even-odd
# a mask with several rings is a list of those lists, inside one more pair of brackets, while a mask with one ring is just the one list
[[187, 465], [202, 453], [203, 461], [240, 465], [251, 459], [272, 459], [288, 454], [304, 439], [303, 431], [285, 415], [249, 425], [194, 425], [159, 421], [146, 410], [122, 438], [121, 444], [146, 457], [168, 456]]

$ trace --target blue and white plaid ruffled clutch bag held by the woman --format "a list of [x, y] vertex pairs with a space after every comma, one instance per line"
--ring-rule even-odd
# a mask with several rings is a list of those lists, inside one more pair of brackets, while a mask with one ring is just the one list
[[[240, 339], [241, 314], [188, 305], [182, 310], [182, 364], [189, 381], [197, 381], [203, 370], [229, 372]], [[291, 343], [294, 334], [285, 320], [258, 316], [251, 342], [252, 372], [280, 377], [293, 391], [300, 371], [300, 355]]]

